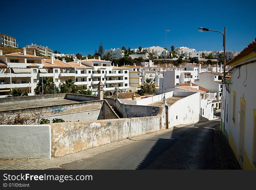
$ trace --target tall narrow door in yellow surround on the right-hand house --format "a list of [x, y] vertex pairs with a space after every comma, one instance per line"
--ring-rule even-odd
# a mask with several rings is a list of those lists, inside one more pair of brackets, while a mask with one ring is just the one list
[[240, 102], [240, 128], [239, 128], [239, 160], [243, 165], [243, 149], [244, 149], [244, 123], [245, 123], [245, 102]]

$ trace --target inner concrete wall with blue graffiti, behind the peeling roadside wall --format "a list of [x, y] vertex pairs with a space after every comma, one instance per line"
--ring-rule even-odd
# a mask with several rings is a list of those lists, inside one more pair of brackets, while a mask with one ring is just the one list
[[29, 118], [26, 124], [38, 124], [38, 121], [41, 118], [48, 119], [50, 122], [52, 122], [51, 120], [54, 118], [62, 118], [67, 122], [118, 118], [105, 100], [75, 102], [48, 107], [41, 106], [32, 109], [28, 108], [0, 112], [4, 117], [10, 118], [14, 118], [18, 113], [21, 113], [22, 117]]

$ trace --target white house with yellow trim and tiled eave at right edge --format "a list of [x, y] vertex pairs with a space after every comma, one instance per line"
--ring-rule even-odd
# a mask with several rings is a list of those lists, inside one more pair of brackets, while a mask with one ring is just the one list
[[[242, 169], [256, 169], [256, 38], [227, 65], [221, 129]], [[228, 71], [228, 70], [227, 70]]]

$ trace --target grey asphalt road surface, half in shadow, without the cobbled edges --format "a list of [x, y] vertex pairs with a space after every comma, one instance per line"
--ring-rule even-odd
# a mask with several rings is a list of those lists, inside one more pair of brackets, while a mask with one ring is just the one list
[[175, 127], [162, 135], [63, 164], [64, 169], [215, 169], [214, 127], [220, 121]]

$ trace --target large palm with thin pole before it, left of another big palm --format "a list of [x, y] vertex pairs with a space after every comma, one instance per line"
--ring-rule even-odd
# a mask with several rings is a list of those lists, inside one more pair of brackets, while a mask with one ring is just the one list
[[[55, 91], [54, 91], [55, 86]], [[42, 90], [44, 94], [55, 94], [58, 93], [58, 87], [52, 82], [49, 77], [43, 78], [43, 89], [42, 89], [42, 82], [38, 82], [35, 87], [35, 95], [42, 95]]]

